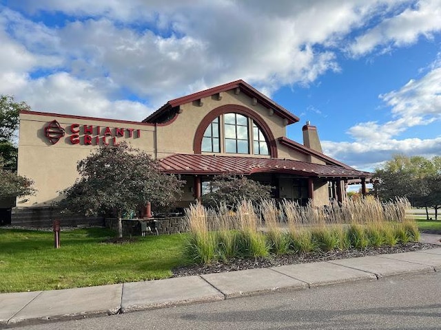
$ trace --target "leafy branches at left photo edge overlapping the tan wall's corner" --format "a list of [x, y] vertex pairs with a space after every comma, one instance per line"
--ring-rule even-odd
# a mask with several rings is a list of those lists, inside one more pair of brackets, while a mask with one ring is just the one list
[[27, 177], [3, 169], [3, 158], [0, 156], [0, 199], [33, 195], [35, 190], [32, 184]]

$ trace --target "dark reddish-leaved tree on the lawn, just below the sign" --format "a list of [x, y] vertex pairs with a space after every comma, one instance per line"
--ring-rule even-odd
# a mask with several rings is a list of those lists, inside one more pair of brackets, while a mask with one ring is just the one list
[[139, 210], [149, 201], [168, 206], [181, 195], [184, 183], [174, 175], [161, 173], [157, 160], [125, 142], [100, 146], [78, 162], [77, 170], [81, 177], [61, 192], [65, 198], [59, 206], [83, 214], [115, 211], [120, 238], [123, 213]]

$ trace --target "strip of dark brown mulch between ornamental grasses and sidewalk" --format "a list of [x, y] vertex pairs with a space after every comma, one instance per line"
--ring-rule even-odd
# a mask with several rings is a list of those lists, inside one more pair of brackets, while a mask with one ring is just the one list
[[313, 263], [336, 259], [356, 258], [359, 256], [376, 256], [378, 254], [391, 254], [440, 248], [440, 245], [411, 242], [396, 246], [382, 246], [380, 248], [366, 248], [365, 250], [334, 250], [329, 252], [312, 252], [309, 254], [286, 254], [271, 256], [267, 259], [231, 259], [225, 263], [216, 262], [209, 265], [187, 265], [176, 267], [172, 270], [173, 277], [212, 274], [221, 272], [234, 272], [236, 270], [249, 270], [254, 268], [276, 267], [282, 265], [295, 265], [298, 263]]

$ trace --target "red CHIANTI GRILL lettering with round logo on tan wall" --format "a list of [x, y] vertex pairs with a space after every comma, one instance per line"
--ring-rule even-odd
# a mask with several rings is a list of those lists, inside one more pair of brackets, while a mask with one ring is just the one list
[[117, 137], [137, 138], [141, 137], [140, 129], [131, 129], [125, 127], [109, 127], [70, 124], [65, 128], [61, 127], [57, 120], [52, 120], [44, 128], [44, 135], [50, 143], [56, 144], [61, 137], [68, 135], [65, 139], [68, 144], [82, 144], [99, 146], [112, 144], [117, 146], [119, 143]]

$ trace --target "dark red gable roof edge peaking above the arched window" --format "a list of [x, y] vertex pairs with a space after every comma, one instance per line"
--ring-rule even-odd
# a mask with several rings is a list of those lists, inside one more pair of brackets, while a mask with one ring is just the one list
[[159, 108], [154, 113], [152, 113], [147, 118], [145, 118], [143, 122], [155, 122], [155, 120], [159, 116], [161, 116], [162, 113], [164, 113], [165, 111], [169, 111], [174, 107], [178, 107], [181, 104], [199, 100], [200, 98], [207, 98], [214, 94], [218, 94], [223, 91], [229, 91], [230, 89], [234, 89], [234, 88], [240, 88], [241, 92], [243, 92], [247, 96], [256, 98], [258, 100], [258, 103], [262, 104], [264, 107], [273, 109], [274, 113], [279, 115], [281, 118], [286, 119], [288, 124], [294, 124], [294, 122], [298, 122], [300, 120], [296, 115], [292, 114], [284, 107], [280, 106], [279, 104], [268, 98], [267, 96], [263, 95], [262, 93], [260, 93], [260, 91], [258, 91], [251, 85], [245, 83], [245, 81], [236, 80], [236, 81], [232, 81], [231, 83], [205, 89], [205, 91], [198, 91], [194, 94], [190, 94], [187, 96], [183, 96], [181, 98], [175, 98], [174, 100], [170, 100], [167, 103], [165, 103], [161, 108]]

